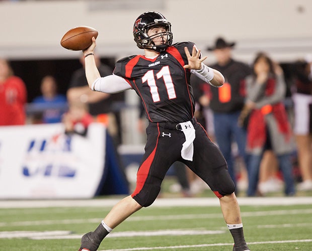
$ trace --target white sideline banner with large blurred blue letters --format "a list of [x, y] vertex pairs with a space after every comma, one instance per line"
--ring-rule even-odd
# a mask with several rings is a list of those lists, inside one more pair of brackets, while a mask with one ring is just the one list
[[105, 165], [106, 131], [64, 134], [63, 124], [0, 127], [0, 199], [92, 198]]

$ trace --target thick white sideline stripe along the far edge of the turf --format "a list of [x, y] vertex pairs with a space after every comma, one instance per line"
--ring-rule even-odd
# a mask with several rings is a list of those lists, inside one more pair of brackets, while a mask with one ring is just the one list
[[[117, 199], [89, 200], [0, 200], [0, 208], [38, 208], [38, 207], [112, 207]], [[312, 197], [239, 197], [240, 205], [309, 205]], [[158, 198], [152, 207], [165, 206], [219, 206], [217, 197], [212, 198]]]

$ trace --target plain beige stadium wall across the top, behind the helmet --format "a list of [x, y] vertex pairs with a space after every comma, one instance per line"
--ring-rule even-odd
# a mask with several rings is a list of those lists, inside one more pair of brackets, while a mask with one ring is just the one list
[[168, 18], [174, 41], [191, 40], [205, 50], [222, 35], [237, 42], [236, 57], [245, 61], [259, 50], [279, 61], [312, 52], [309, 0], [80, 0], [0, 2], [0, 55], [9, 59], [77, 58], [78, 52], [63, 49], [59, 42], [67, 30], [81, 25], [98, 29], [97, 51], [102, 56], [139, 53], [132, 25], [147, 10], [160, 11]]

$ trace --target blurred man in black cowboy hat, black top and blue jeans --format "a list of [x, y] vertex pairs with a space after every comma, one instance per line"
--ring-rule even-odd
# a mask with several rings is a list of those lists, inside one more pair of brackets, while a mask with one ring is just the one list
[[245, 78], [251, 73], [248, 65], [232, 59], [231, 51], [234, 42], [226, 42], [223, 38], [217, 38], [213, 51], [217, 63], [212, 68], [220, 71], [225, 83], [219, 88], [210, 88], [210, 108], [213, 111], [214, 135], [222, 154], [228, 165], [228, 171], [237, 184], [234, 160], [232, 155], [232, 142], [236, 142], [238, 153], [246, 164], [246, 130], [238, 126], [238, 118], [245, 103]]

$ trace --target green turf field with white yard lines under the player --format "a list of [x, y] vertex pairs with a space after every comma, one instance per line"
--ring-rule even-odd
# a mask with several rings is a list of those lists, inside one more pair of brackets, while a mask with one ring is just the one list
[[[312, 250], [312, 197], [290, 205], [285, 197], [248, 199], [241, 211], [251, 250]], [[14, 201], [17, 206], [2, 201], [0, 250], [77, 250], [81, 235], [97, 227], [114, 204], [108, 200]], [[99, 250], [232, 250], [232, 237], [217, 198], [165, 198], [116, 227]]]

